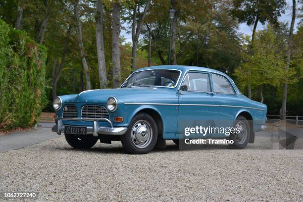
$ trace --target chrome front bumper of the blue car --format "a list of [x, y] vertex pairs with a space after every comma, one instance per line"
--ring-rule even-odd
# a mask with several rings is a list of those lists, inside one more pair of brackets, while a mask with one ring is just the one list
[[[93, 135], [98, 137], [99, 135], [124, 135], [127, 131], [126, 127], [113, 127], [110, 120], [107, 118], [98, 118], [98, 119], [88, 119], [88, 118], [55, 118], [58, 120], [56, 125], [51, 128], [52, 132], [56, 132], [58, 135], [61, 135], [61, 132], [64, 133], [64, 125], [62, 120], [67, 121], [94, 121], [92, 127], [87, 127], [87, 135]], [[99, 126], [98, 121], [107, 121], [110, 124], [110, 127]], [[68, 125], [73, 126], [73, 125]]]

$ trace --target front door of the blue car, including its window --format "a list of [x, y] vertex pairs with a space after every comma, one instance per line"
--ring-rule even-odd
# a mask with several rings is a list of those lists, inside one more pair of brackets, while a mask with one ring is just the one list
[[[179, 113], [177, 138], [184, 137], [186, 128], [214, 127], [219, 121], [220, 106], [214, 98], [210, 85], [210, 74], [200, 71], [189, 71], [179, 91]], [[183, 89], [183, 90], [182, 90]], [[211, 137], [195, 133], [189, 138]]]

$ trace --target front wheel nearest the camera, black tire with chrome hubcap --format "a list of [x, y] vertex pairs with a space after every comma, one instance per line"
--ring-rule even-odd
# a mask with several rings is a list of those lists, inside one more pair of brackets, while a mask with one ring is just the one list
[[[152, 116], [146, 113], [139, 113], [132, 119], [126, 133], [121, 137], [121, 142], [125, 152], [145, 154], [153, 150], [157, 137], [157, 125]], [[147, 140], [145, 141], [145, 139]]]

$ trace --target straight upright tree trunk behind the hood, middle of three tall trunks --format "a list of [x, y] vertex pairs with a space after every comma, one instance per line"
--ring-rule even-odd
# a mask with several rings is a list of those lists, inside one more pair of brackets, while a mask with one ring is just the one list
[[107, 88], [107, 75], [105, 63], [105, 50], [103, 41], [103, 4], [102, 0], [96, 2], [96, 43], [97, 43], [97, 56], [99, 67], [99, 81], [100, 89]]

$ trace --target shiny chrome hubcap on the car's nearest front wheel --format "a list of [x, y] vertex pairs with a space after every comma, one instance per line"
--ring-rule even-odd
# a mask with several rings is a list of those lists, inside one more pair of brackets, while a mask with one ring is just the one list
[[132, 128], [132, 142], [137, 148], [146, 148], [152, 141], [152, 127], [145, 120], [137, 121]]

